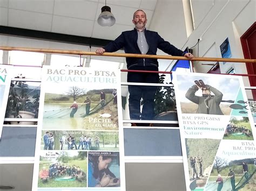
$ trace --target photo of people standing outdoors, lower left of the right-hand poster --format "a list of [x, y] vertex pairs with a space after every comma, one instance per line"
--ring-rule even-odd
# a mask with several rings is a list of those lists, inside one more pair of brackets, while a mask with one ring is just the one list
[[190, 181], [204, 187], [217, 153], [218, 139], [185, 139]]

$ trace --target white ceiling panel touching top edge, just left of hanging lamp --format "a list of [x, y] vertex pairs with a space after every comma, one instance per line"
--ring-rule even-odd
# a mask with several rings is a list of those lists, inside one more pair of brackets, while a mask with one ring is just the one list
[[56, 0], [54, 15], [94, 20], [98, 3]]

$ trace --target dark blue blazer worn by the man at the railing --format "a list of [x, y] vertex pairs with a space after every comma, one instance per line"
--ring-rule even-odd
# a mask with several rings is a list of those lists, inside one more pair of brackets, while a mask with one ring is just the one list
[[[183, 56], [185, 54], [183, 51], [161, 38], [157, 32], [145, 30], [145, 37], [147, 44], [149, 44], [149, 51], [146, 54], [156, 55], [157, 48], [173, 56]], [[124, 47], [125, 53], [142, 54], [138, 47], [137, 39], [138, 32], [136, 29], [132, 31], [124, 31], [116, 38], [116, 40], [111, 41], [103, 48], [106, 52], [116, 52]], [[126, 63], [128, 69], [132, 69], [136, 66], [158, 67], [157, 59], [126, 58]]]

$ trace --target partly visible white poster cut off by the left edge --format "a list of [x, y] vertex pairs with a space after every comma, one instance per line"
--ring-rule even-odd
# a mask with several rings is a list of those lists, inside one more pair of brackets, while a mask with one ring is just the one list
[[0, 139], [2, 136], [4, 115], [8, 101], [12, 78], [12, 66], [0, 65]]

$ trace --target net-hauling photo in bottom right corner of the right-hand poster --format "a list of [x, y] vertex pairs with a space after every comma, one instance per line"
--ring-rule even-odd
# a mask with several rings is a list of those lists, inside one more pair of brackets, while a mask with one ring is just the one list
[[255, 165], [256, 158], [232, 160], [217, 156], [205, 189], [207, 191], [254, 190]]

